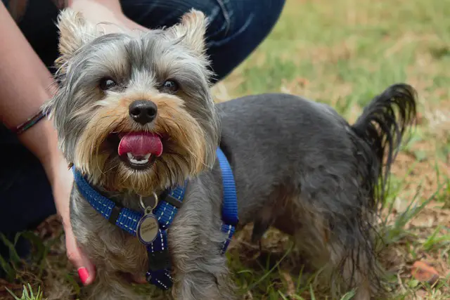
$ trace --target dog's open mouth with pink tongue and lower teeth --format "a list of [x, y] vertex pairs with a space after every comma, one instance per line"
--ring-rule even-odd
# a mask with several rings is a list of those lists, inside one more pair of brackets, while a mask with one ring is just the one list
[[161, 137], [156, 133], [112, 133], [110, 141], [117, 145], [117, 155], [131, 169], [147, 169], [162, 155]]

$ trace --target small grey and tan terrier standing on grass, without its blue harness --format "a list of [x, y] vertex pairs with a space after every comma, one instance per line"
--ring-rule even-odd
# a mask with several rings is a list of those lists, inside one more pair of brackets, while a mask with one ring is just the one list
[[[254, 223], [257, 241], [274, 226], [294, 237], [334, 296], [376, 296], [378, 208], [416, 119], [416, 91], [387, 87], [352, 125], [328, 105], [282, 93], [214, 104], [206, 27], [205, 15], [191, 11], [172, 27], [103, 34], [63, 11], [60, 89], [43, 109], [65, 158], [101, 197], [134, 211], [186, 184], [167, 230], [168, 297], [238, 297], [219, 251], [226, 236], [218, 147], [233, 172], [236, 230]], [[87, 299], [140, 299], [125, 275], [146, 273], [146, 245], [106, 220], [77, 184], [70, 201], [79, 246], [96, 265]]]

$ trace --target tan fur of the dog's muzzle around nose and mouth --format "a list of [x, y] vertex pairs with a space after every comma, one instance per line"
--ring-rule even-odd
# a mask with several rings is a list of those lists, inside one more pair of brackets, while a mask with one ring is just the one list
[[[176, 152], [177, 155], [164, 151], [160, 157], [164, 163], [157, 159], [152, 170], [146, 172], [130, 170], [122, 164], [114, 170], [105, 169], [111, 154], [104, 150], [108, 135], [143, 129], [129, 119], [128, 107], [136, 99], [151, 99], [158, 106], [155, 125], [146, 130], [167, 137], [170, 152]], [[167, 187], [171, 170], [177, 169], [179, 165], [178, 159], [188, 159], [188, 169], [183, 170], [186, 176], [198, 174], [207, 167], [203, 131], [198, 122], [184, 110], [184, 100], [181, 98], [158, 93], [121, 94], [120, 98], [113, 95], [96, 106], [96, 112], [80, 138], [74, 162], [84, 174], [89, 174], [93, 183], [114, 187], [119, 192], [131, 189], [140, 195], [150, 195], [155, 189]], [[86, 108], [86, 112], [93, 109]], [[163, 146], [167, 147], [167, 144]]]

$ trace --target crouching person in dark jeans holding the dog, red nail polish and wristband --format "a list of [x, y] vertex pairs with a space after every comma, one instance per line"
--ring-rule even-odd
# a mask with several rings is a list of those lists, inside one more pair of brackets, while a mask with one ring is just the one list
[[[284, 0], [2, 0], [1, 233], [13, 239], [15, 233], [34, 228], [57, 212], [65, 230], [68, 258], [84, 285], [95, 278], [95, 266], [77, 247], [70, 227], [72, 173], [58, 150], [51, 121], [39, 113], [42, 103], [57, 89], [51, 74], [58, 57], [55, 23], [60, 9], [71, 7], [91, 22], [130, 30], [171, 26], [191, 8], [203, 11], [210, 20], [207, 54], [220, 80], [264, 40], [283, 6]], [[25, 255], [27, 247], [20, 244], [25, 242], [17, 244], [19, 254]], [[0, 244], [0, 253], [7, 255], [5, 244]]]

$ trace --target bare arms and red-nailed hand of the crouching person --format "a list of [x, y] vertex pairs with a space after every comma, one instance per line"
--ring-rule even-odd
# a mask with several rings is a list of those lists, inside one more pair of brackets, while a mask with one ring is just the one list
[[[69, 6], [85, 13], [91, 22], [142, 28], [123, 15], [119, 1], [73, 0]], [[117, 25], [111, 25], [108, 30], [118, 30]], [[53, 85], [49, 70], [34, 53], [3, 3], [0, 3], [0, 32], [0, 119], [6, 126], [14, 128], [36, 114], [53, 96], [57, 86]], [[46, 171], [56, 209], [63, 221], [68, 257], [79, 270], [84, 284], [89, 285], [95, 278], [95, 268], [77, 247], [70, 226], [69, 197], [73, 176], [58, 149], [56, 131], [51, 121], [41, 119], [18, 138], [36, 155]]]

